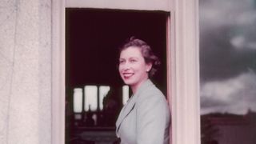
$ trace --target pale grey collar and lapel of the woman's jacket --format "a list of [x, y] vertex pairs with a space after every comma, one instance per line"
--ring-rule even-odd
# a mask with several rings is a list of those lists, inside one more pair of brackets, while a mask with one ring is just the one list
[[123, 106], [119, 116], [118, 120], [116, 122], [116, 132], [118, 133], [119, 127], [122, 124], [122, 121], [130, 114], [132, 110], [134, 110], [134, 106], [136, 104], [137, 98], [139, 94], [142, 93], [142, 91], [146, 90], [147, 87], [154, 85], [153, 82], [150, 81], [150, 79], [147, 79], [145, 82], [142, 83], [142, 86], [138, 87], [138, 90], [135, 92], [135, 94], [128, 100], [125, 106]]

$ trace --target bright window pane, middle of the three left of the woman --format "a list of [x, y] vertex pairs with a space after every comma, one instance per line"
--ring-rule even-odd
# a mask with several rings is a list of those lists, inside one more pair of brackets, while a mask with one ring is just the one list
[[98, 100], [98, 87], [97, 86], [85, 86], [85, 110], [96, 111]]

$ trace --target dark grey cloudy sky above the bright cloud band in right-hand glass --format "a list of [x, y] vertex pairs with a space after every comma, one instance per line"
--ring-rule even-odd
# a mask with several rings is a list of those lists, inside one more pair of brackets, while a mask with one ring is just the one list
[[256, 70], [256, 2], [201, 0], [199, 4], [201, 82]]

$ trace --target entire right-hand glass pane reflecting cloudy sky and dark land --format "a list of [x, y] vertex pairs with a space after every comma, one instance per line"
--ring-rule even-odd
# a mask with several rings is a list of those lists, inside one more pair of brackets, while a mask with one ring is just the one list
[[202, 144], [256, 143], [256, 1], [200, 0]]

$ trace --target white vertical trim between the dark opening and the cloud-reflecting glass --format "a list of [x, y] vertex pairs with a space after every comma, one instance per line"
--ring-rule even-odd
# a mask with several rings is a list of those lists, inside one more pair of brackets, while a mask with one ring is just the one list
[[175, 0], [171, 11], [174, 144], [200, 143], [198, 0]]

